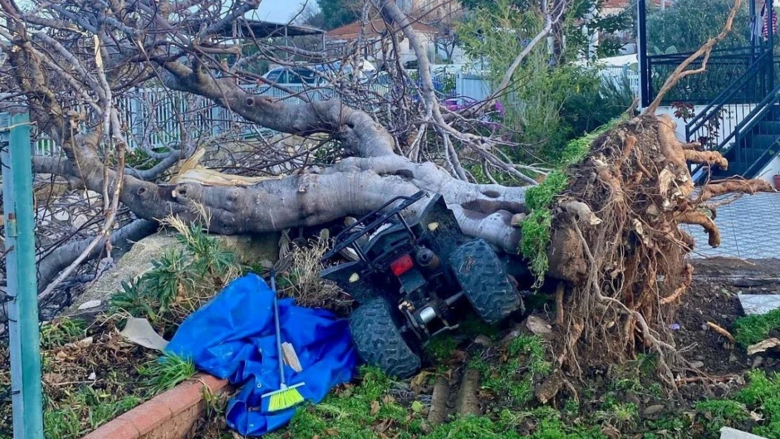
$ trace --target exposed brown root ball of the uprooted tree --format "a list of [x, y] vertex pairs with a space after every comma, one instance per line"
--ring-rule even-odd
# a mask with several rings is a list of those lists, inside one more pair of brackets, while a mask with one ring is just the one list
[[623, 363], [650, 351], [658, 353], [663, 380], [674, 386], [683, 359], [668, 324], [692, 279], [686, 255], [694, 244], [679, 225], [704, 227], [708, 244], [718, 246], [714, 205], [707, 201], [773, 190], [768, 182], [741, 179], [695, 190], [689, 163], [728, 164], [718, 153], [680, 143], [674, 129], [667, 116], [636, 117], [599, 136], [587, 157], [567, 170], [548, 275], [565, 281], [555, 352], [575, 375], [585, 365]]

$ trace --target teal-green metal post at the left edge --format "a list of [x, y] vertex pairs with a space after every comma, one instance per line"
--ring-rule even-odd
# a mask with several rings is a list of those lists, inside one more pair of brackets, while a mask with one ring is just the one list
[[43, 439], [32, 146], [26, 114], [0, 115], [13, 437]]

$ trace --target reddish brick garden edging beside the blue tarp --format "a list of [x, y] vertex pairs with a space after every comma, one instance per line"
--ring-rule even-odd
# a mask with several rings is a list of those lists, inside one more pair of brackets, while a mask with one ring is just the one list
[[186, 439], [192, 437], [206, 403], [203, 388], [225, 391], [228, 382], [197, 374], [161, 395], [98, 427], [82, 439]]

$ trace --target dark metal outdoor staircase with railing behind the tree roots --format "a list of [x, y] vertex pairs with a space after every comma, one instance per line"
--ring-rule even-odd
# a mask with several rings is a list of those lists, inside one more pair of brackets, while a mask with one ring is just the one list
[[697, 181], [756, 177], [780, 151], [780, 85], [775, 86], [771, 46], [686, 124], [686, 139], [716, 150], [729, 168], [693, 168]]

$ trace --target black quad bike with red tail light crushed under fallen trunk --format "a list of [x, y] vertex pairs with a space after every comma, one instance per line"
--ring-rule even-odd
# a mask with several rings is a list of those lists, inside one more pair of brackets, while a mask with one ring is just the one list
[[[413, 221], [402, 211], [427, 200]], [[395, 207], [392, 207], [395, 206]], [[352, 261], [321, 271], [359, 306], [349, 329], [360, 356], [386, 373], [409, 377], [420, 369], [420, 350], [441, 331], [457, 327], [470, 303], [494, 324], [523, 300], [511, 264], [483, 239], [460, 231], [441, 195], [398, 196], [335, 236], [323, 257], [351, 254]]]

